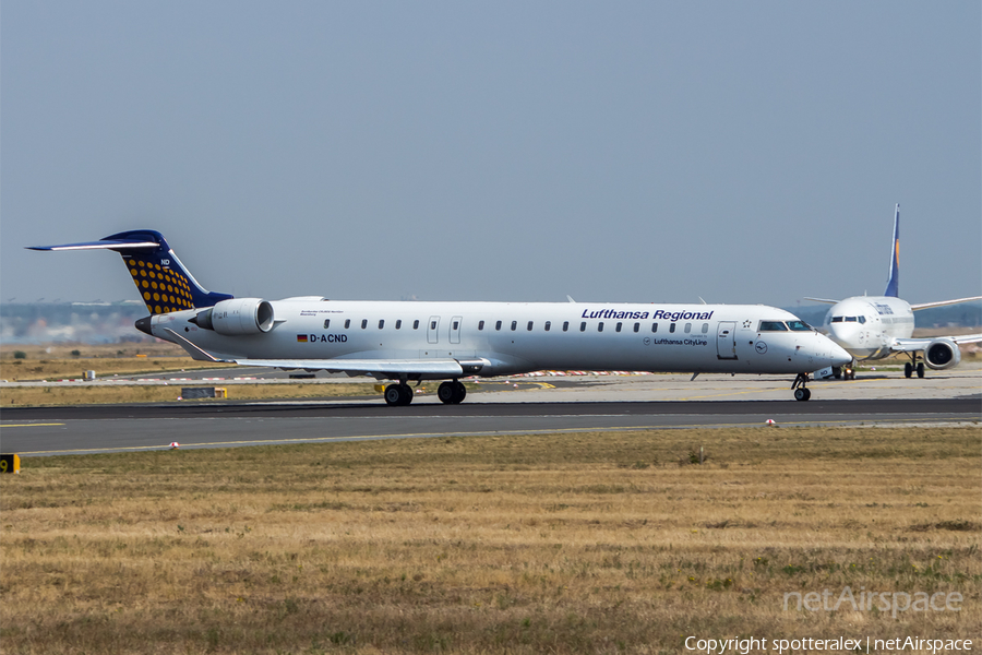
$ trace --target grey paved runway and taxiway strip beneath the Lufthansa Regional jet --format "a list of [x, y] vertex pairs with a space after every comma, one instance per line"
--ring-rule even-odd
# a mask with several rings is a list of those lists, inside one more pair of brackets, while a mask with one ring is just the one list
[[[482, 383], [462, 405], [432, 391], [408, 407], [381, 398], [199, 402], [3, 409], [0, 449], [22, 456], [357, 439], [624, 429], [763, 426], [979, 425], [982, 366], [923, 380], [869, 372], [812, 382], [791, 400], [790, 379], [759, 376], [585, 376]], [[325, 381], [326, 382], [326, 381]], [[435, 389], [435, 384], [428, 388]], [[233, 396], [233, 390], [230, 389]]]

